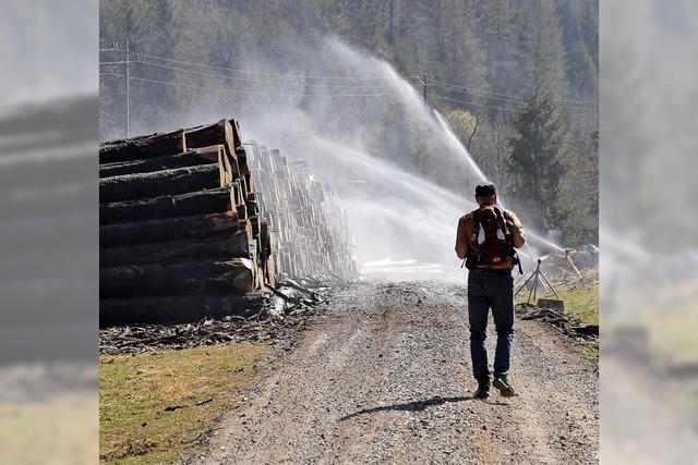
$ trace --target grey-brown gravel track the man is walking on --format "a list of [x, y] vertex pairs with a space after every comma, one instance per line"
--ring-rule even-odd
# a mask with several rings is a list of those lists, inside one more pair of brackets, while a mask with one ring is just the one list
[[203, 462], [597, 462], [597, 365], [544, 323], [516, 325], [519, 396], [471, 400], [465, 286], [356, 284], [228, 415]]

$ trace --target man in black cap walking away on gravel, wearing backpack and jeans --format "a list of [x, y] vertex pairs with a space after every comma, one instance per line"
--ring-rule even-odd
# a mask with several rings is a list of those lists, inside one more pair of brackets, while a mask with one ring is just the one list
[[476, 187], [479, 205], [458, 220], [456, 255], [466, 260], [468, 274], [468, 319], [472, 375], [478, 380], [473, 396], [490, 395], [490, 369], [485, 345], [488, 314], [492, 308], [497, 332], [492, 384], [506, 397], [516, 395], [508, 379], [514, 339], [514, 279], [512, 270], [520, 265], [515, 248], [526, 242], [524, 227], [512, 211], [497, 205], [494, 184]]

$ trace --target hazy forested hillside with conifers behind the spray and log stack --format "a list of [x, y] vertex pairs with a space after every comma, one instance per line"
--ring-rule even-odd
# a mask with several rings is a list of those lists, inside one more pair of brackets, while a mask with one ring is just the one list
[[[196, 124], [209, 118], [192, 101], [242, 114], [260, 106], [261, 82], [289, 91], [285, 73], [305, 75], [293, 95], [317, 91], [308, 50], [320, 54], [327, 36], [393, 64], [534, 227], [598, 242], [595, 0], [103, 0], [101, 138], [125, 134], [127, 72], [131, 133]], [[360, 73], [345, 87], [380, 96]], [[422, 143], [404, 156], [438, 181]]]

